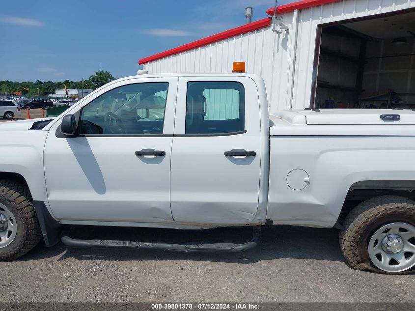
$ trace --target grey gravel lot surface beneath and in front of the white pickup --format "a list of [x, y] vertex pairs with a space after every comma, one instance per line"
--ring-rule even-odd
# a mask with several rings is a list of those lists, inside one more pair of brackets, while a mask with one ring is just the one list
[[[78, 232], [141, 241], [192, 236], [239, 242], [250, 234], [248, 228]], [[414, 302], [414, 289], [414, 274], [348, 267], [337, 230], [291, 226], [263, 229], [261, 244], [239, 254], [78, 250], [42, 243], [17, 261], [0, 263], [0, 302]]]

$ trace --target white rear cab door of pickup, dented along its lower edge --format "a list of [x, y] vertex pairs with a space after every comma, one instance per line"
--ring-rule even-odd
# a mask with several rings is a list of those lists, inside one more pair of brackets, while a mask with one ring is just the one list
[[258, 92], [248, 77], [181, 77], [171, 152], [173, 219], [246, 224], [258, 209]]

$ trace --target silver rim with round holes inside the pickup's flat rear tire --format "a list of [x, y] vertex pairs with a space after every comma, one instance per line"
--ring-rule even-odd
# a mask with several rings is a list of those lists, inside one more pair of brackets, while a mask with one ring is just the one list
[[386, 272], [402, 272], [415, 265], [415, 226], [391, 223], [377, 229], [368, 245], [370, 260]]

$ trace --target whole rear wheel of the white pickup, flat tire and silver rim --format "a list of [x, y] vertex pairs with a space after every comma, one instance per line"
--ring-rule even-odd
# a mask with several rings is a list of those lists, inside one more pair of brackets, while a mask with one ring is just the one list
[[347, 262], [358, 270], [403, 273], [415, 266], [415, 202], [380, 196], [356, 206], [340, 232]]

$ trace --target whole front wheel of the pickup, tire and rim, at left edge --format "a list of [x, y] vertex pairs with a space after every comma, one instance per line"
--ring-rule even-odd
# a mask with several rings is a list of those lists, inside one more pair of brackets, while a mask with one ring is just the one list
[[0, 260], [23, 256], [39, 243], [41, 236], [28, 189], [0, 180]]

